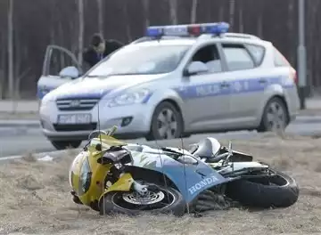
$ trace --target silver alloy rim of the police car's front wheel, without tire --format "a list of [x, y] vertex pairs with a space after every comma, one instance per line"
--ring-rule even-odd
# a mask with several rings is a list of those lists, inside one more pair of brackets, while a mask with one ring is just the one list
[[171, 109], [162, 109], [157, 117], [157, 132], [161, 139], [174, 139], [177, 134], [177, 118]]

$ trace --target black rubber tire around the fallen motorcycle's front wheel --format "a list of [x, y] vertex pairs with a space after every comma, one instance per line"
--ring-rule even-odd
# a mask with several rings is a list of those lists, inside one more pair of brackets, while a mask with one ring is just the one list
[[[146, 184], [146, 183], [145, 183]], [[110, 214], [126, 214], [126, 215], [137, 215], [142, 212], [151, 212], [152, 214], [172, 214], [176, 216], [182, 216], [185, 214], [186, 203], [182, 194], [177, 190], [169, 187], [163, 187], [157, 185], [157, 187], [164, 193], [164, 199], [172, 198], [172, 202], [161, 208], [156, 208], [152, 210], [139, 209], [133, 203], [128, 203], [125, 201], [123, 195], [127, 194], [126, 191], [111, 191], [107, 193], [99, 204], [100, 215], [110, 215]], [[167, 195], [166, 195], [167, 194]], [[163, 199], [162, 199], [163, 200]], [[158, 202], [159, 203], [159, 202]], [[131, 208], [130, 208], [131, 207]], [[148, 206], [144, 206], [148, 207]]]

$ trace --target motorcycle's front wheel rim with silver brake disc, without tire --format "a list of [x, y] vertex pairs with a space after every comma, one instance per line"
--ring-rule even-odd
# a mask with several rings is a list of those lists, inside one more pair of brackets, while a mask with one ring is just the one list
[[166, 208], [176, 200], [176, 196], [167, 190], [160, 190], [158, 192], [148, 191], [144, 197], [140, 196], [137, 192], [117, 192], [111, 198], [112, 203], [117, 207], [141, 211]]

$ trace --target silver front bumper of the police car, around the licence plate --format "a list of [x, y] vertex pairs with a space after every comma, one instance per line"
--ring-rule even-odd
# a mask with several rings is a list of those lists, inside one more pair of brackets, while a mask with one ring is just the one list
[[[144, 137], [150, 131], [153, 109], [147, 104], [135, 104], [109, 108], [99, 103], [91, 110], [62, 111], [54, 101], [48, 102], [39, 109], [42, 131], [51, 141], [86, 140], [92, 131], [106, 130], [111, 126], [118, 126], [114, 135], [116, 138], [135, 139]], [[58, 124], [61, 114], [91, 114], [89, 124]], [[100, 124], [100, 126], [99, 126]]]

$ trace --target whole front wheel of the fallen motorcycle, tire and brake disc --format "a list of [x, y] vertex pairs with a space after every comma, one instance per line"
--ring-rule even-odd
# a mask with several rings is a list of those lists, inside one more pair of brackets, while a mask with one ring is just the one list
[[148, 190], [144, 197], [136, 191], [112, 191], [107, 193], [99, 205], [100, 215], [137, 215], [142, 212], [176, 216], [185, 214], [185, 199], [180, 192], [160, 185], [157, 185], [157, 188], [158, 190]]

